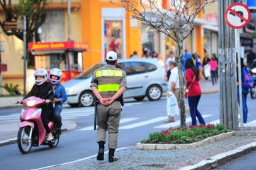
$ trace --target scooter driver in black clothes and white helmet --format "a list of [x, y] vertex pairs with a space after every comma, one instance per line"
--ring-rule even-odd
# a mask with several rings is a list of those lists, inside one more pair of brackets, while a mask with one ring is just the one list
[[[35, 96], [38, 98], [44, 98], [45, 104], [38, 106], [42, 108], [41, 119], [44, 124], [44, 128], [47, 133], [47, 140], [52, 140], [54, 137], [52, 133], [50, 133], [50, 129], [48, 127], [48, 123], [52, 118], [52, 113], [54, 111], [53, 104], [50, 101], [54, 101], [54, 94], [49, 94], [49, 91], [53, 91], [52, 86], [50, 86], [50, 82], [47, 82], [48, 73], [45, 69], [37, 69], [34, 73], [35, 76], [35, 84], [33, 85], [31, 91], [26, 94], [25, 98], [29, 98], [31, 96]], [[45, 97], [46, 96], [46, 97]]]

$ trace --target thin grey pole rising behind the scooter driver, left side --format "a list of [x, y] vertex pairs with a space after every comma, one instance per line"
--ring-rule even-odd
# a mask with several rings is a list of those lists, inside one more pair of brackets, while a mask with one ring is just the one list
[[23, 16], [23, 86], [26, 96], [26, 16]]

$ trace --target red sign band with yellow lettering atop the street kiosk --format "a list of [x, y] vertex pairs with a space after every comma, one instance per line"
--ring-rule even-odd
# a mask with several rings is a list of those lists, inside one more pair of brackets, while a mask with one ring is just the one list
[[87, 50], [87, 43], [82, 42], [49, 42], [28, 43], [28, 50]]

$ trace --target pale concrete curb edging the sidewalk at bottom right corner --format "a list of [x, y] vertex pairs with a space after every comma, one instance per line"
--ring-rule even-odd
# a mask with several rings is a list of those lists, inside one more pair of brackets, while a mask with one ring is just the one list
[[182, 167], [178, 170], [207, 170], [207, 169], [216, 168], [228, 161], [231, 161], [233, 159], [236, 159], [237, 157], [243, 156], [244, 154], [247, 154], [248, 152], [255, 149], [256, 149], [256, 142], [252, 142], [250, 144], [238, 147], [234, 150], [230, 150], [228, 152], [224, 152], [222, 154], [212, 156], [208, 159], [204, 159], [201, 162], [198, 162], [197, 164], [194, 164], [192, 166]]

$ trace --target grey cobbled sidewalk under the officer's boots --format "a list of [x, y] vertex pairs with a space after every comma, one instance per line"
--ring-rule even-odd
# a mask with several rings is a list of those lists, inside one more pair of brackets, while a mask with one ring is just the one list
[[[209, 157], [216, 156], [223, 152], [227, 152], [243, 145], [256, 141], [256, 130], [245, 130], [244, 134], [240, 131], [229, 139], [219, 140], [208, 145], [197, 147], [194, 149], [173, 149], [173, 150], [137, 150], [136, 147], [129, 147], [123, 150], [117, 150], [115, 156], [119, 157], [119, 161], [108, 162], [108, 154], [105, 154], [104, 161], [97, 161], [96, 156], [87, 157], [80, 161], [74, 161], [67, 164], [47, 167], [45, 169], [192, 169], [186, 166], [197, 164]], [[139, 141], [138, 141], [139, 142]], [[255, 144], [254, 144], [255, 145]], [[95, 144], [95, 147], [96, 144]], [[255, 147], [255, 146], [254, 146]], [[250, 147], [250, 149], [254, 149]], [[245, 147], [243, 147], [245, 148]], [[242, 149], [243, 149], [242, 148]], [[238, 149], [238, 150], [241, 150]], [[245, 151], [248, 151], [248, 149]], [[233, 151], [234, 152], [234, 151]], [[96, 154], [96, 153], [95, 153]], [[236, 152], [235, 157], [241, 156], [243, 153]], [[221, 157], [221, 156], [217, 156]], [[221, 162], [230, 161], [234, 157], [226, 156]], [[213, 158], [211, 158], [213, 159]], [[209, 160], [211, 160], [209, 159]], [[215, 157], [216, 159], [216, 157]], [[223, 161], [224, 160], [224, 161]], [[204, 161], [207, 162], [207, 161]], [[216, 163], [215, 163], [216, 164]], [[205, 166], [195, 169], [208, 169]]]

